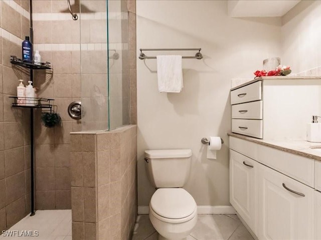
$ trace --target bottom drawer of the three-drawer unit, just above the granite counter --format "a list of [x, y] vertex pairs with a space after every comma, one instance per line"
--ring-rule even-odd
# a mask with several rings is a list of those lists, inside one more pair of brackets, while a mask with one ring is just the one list
[[263, 120], [232, 119], [232, 132], [262, 138], [262, 125]]

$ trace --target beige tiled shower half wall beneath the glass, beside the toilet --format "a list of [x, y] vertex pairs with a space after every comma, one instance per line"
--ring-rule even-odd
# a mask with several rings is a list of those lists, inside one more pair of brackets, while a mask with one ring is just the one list
[[130, 239], [137, 216], [137, 126], [71, 133], [72, 237]]

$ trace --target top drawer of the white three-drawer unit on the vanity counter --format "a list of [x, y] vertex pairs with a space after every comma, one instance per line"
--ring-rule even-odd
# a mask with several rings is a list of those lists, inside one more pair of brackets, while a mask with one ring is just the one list
[[249, 85], [231, 91], [231, 104], [262, 99], [262, 81], [257, 81]]

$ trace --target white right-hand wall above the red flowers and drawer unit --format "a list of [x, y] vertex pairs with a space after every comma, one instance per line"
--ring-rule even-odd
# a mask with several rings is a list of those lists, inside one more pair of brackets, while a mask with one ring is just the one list
[[321, 65], [321, 1], [301, 1], [282, 17], [282, 52], [294, 73]]

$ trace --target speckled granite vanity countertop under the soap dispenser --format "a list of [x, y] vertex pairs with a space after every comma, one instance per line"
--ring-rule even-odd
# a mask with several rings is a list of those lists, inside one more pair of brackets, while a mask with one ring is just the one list
[[[245, 136], [233, 132], [227, 133], [229, 136], [234, 136], [247, 141], [252, 141], [264, 146], [276, 148], [278, 150], [290, 152], [296, 155], [312, 158], [321, 161], [321, 142], [309, 142], [303, 139], [258, 139], [255, 137]], [[310, 147], [320, 148], [310, 148]]]

